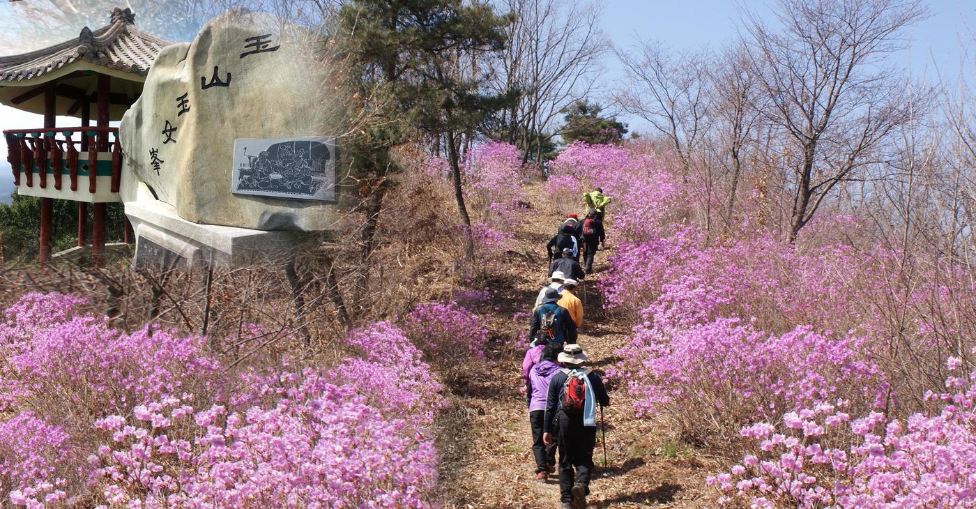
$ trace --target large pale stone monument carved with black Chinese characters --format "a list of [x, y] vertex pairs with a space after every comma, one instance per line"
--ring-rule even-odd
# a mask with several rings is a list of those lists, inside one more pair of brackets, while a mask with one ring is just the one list
[[137, 266], [250, 263], [335, 225], [320, 60], [305, 30], [236, 10], [159, 54], [119, 128]]

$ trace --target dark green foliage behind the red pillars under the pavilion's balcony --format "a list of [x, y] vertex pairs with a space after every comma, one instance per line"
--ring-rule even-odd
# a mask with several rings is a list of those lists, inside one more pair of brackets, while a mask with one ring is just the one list
[[[0, 203], [0, 240], [6, 261], [31, 262], [37, 259], [41, 237], [41, 199], [15, 193], [10, 204]], [[88, 206], [88, 231], [92, 241], [92, 209]], [[125, 211], [121, 203], [105, 207], [105, 242], [119, 242], [125, 229]], [[78, 202], [56, 199], [52, 225], [54, 249], [57, 253], [78, 243]]]

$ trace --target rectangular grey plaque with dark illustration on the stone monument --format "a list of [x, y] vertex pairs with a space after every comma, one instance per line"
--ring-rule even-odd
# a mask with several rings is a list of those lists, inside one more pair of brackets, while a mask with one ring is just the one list
[[333, 201], [335, 154], [335, 142], [328, 138], [235, 140], [230, 191]]

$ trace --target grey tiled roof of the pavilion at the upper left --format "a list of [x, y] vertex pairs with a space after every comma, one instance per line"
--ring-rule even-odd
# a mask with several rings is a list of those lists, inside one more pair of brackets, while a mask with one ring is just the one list
[[142, 32], [131, 10], [115, 8], [111, 22], [92, 31], [82, 28], [77, 39], [48, 48], [0, 57], [0, 82], [41, 76], [78, 60], [144, 76], [168, 41]]

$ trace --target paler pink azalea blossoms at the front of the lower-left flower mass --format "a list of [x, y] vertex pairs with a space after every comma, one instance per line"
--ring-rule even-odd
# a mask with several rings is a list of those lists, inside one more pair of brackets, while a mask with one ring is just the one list
[[194, 411], [168, 399], [137, 407], [130, 419], [98, 421], [105, 445], [89, 462], [104, 500], [201, 508], [427, 505], [436, 454], [408, 421], [311, 370], [281, 381], [285, 397], [266, 409]]

